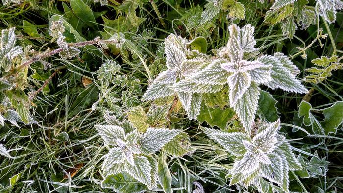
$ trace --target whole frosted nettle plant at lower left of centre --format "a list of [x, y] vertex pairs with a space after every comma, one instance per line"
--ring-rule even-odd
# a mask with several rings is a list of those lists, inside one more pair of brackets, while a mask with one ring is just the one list
[[121, 126], [95, 125], [95, 128], [111, 146], [102, 164], [104, 175], [126, 172], [148, 188], [157, 186], [157, 160], [153, 154], [181, 132], [149, 127], [140, 133], [128, 121]]

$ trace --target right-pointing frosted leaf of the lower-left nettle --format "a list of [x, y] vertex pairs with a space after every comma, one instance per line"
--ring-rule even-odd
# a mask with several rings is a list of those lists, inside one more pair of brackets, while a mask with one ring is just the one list
[[141, 139], [141, 151], [145, 154], [155, 153], [172, 140], [181, 130], [148, 128]]

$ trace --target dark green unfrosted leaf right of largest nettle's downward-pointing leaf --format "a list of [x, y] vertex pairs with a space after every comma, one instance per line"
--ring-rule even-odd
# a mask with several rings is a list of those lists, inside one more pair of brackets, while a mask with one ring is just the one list
[[261, 90], [260, 99], [258, 101], [258, 114], [266, 118], [269, 122], [276, 121], [279, 118], [276, 103], [277, 101], [272, 95], [270, 95], [270, 93]]

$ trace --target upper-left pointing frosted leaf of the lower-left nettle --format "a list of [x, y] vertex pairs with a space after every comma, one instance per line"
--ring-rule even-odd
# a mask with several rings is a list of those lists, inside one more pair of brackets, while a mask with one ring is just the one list
[[117, 139], [125, 139], [125, 131], [120, 126], [115, 125], [94, 125], [106, 144], [117, 145]]

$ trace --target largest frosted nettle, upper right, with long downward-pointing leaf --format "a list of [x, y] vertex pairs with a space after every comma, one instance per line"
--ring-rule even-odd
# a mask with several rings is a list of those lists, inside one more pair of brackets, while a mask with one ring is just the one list
[[219, 59], [213, 59], [208, 66], [172, 88], [176, 92], [215, 93], [228, 84], [230, 107], [250, 133], [258, 108], [260, 84], [296, 93], [307, 93], [307, 89], [296, 79], [298, 68], [282, 53], [255, 58], [258, 49], [254, 48], [253, 26], [247, 24], [241, 29], [232, 24], [229, 31], [227, 45], [217, 51]]

